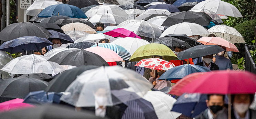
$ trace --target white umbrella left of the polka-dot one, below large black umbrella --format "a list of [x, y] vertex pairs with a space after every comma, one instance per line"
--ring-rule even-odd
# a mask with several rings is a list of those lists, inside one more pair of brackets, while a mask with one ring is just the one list
[[164, 37], [169, 34], [186, 34], [188, 36], [191, 35], [201, 35], [201, 34], [209, 34], [209, 32], [201, 25], [196, 23], [178, 23], [167, 28], [160, 37]]

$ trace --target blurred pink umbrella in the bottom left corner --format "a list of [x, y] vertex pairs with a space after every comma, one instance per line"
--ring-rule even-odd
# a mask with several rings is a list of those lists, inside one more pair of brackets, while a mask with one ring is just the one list
[[12, 99], [9, 101], [5, 101], [0, 103], [0, 112], [3, 111], [9, 111], [9, 110], [15, 110], [20, 108], [27, 108], [27, 107], [34, 107], [33, 105], [22, 103], [23, 99]]

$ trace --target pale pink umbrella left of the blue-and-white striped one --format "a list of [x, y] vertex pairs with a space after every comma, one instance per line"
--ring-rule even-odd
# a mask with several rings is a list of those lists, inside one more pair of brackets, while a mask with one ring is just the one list
[[84, 50], [98, 54], [103, 59], [105, 59], [106, 62], [118, 62], [123, 60], [118, 54], [116, 54], [114, 51], [108, 48], [96, 46], [96, 47], [86, 48]]

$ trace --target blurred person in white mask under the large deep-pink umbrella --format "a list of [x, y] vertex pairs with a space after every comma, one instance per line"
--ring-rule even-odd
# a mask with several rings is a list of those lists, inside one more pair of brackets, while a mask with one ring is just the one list
[[[256, 110], [249, 109], [254, 100], [254, 94], [231, 95], [231, 119], [256, 119]], [[215, 119], [228, 119], [228, 109], [217, 113]]]

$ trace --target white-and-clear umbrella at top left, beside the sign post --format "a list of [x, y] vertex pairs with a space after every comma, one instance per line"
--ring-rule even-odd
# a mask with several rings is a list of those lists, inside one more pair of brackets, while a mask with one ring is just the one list
[[28, 9], [26, 9], [26, 15], [36, 16], [46, 7], [55, 4], [62, 4], [62, 2], [55, 0], [36, 0], [29, 6]]

